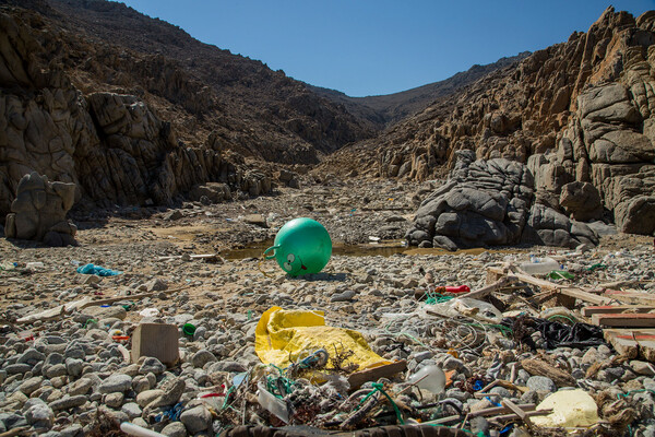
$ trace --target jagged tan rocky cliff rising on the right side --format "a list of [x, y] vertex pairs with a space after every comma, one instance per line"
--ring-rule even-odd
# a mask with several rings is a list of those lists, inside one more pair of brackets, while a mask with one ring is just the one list
[[473, 150], [526, 163], [538, 204], [584, 216], [586, 202], [572, 196], [580, 193], [593, 203], [586, 220], [605, 210], [620, 231], [651, 234], [654, 43], [655, 11], [634, 19], [608, 8], [587, 33], [492, 72], [327, 165], [424, 180], [444, 176], [456, 151]]

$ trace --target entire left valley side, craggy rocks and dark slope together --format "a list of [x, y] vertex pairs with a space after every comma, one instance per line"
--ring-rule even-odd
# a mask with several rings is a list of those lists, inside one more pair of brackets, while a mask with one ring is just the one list
[[257, 196], [265, 162], [317, 163], [373, 132], [284, 72], [122, 3], [1, 1], [0, 21], [2, 216], [33, 172], [99, 206], [167, 204], [206, 181]]

